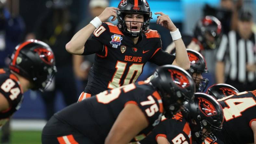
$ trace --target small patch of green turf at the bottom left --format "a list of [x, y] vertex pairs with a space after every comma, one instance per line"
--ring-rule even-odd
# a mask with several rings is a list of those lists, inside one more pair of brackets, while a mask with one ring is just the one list
[[11, 144], [41, 144], [41, 131], [12, 131]]

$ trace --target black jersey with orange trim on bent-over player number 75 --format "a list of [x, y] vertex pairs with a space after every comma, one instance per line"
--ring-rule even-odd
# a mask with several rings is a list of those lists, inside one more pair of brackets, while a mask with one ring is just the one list
[[[58, 143], [57, 139], [70, 135], [78, 143], [104, 143], [127, 103], [138, 105], [147, 117], [149, 125], [140, 134], [147, 135], [160, 122], [163, 112], [160, 95], [151, 85], [138, 82], [103, 91], [56, 113], [43, 129], [42, 143]], [[155, 111], [150, 110], [152, 105]]]

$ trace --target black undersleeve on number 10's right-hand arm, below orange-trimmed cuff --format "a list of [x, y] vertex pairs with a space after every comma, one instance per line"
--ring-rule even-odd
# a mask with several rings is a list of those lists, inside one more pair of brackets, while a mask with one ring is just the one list
[[149, 62], [152, 62], [158, 66], [171, 65], [175, 59], [175, 55], [169, 54], [162, 49], [160, 49], [155, 55], [151, 57]]

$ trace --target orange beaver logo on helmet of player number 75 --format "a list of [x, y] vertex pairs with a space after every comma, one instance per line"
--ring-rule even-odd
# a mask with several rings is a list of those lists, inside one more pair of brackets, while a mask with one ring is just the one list
[[177, 70], [169, 70], [169, 72], [171, 73], [171, 77], [172, 77], [173, 81], [178, 86], [180, 86], [182, 88], [186, 88], [190, 85], [187, 77], [183, 73], [181, 73]]

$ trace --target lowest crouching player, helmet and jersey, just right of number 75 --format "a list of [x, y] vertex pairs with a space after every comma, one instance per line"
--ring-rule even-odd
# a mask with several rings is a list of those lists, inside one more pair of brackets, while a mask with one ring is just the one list
[[173, 119], [165, 119], [140, 144], [201, 144], [205, 138], [212, 143], [214, 131], [220, 131], [223, 111], [210, 95], [195, 93], [194, 102], [186, 102], [181, 113]]

